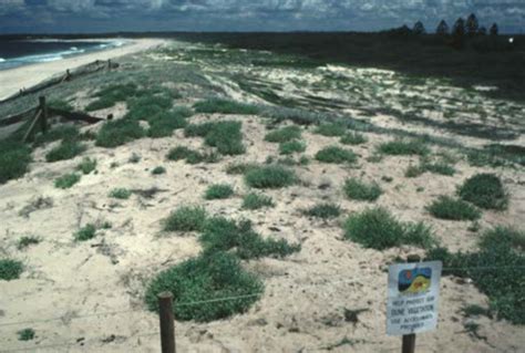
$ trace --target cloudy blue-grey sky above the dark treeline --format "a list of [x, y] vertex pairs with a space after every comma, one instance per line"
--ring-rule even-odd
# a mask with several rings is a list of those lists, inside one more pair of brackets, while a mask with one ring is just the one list
[[525, 31], [525, 0], [0, 0], [0, 34], [114, 31], [429, 32], [474, 12], [482, 25]]

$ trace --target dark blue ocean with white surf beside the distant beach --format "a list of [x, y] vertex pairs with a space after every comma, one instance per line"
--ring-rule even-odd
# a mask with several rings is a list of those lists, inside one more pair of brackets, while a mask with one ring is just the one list
[[58, 61], [125, 44], [125, 40], [0, 40], [0, 70]]

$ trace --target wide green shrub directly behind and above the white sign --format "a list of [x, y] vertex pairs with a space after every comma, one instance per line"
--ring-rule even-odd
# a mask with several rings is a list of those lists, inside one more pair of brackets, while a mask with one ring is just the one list
[[347, 239], [378, 250], [402, 245], [430, 248], [435, 243], [429, 227], [421, 222], [400, 222], [381, 207], [351, 215], [344, 224], [344, 231]]

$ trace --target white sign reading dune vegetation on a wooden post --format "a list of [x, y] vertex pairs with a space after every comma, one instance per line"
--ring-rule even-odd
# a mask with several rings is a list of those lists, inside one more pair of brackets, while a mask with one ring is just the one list
[[404, 335], [437, 325], [441, 261], [389, 267], [387, 334]]

